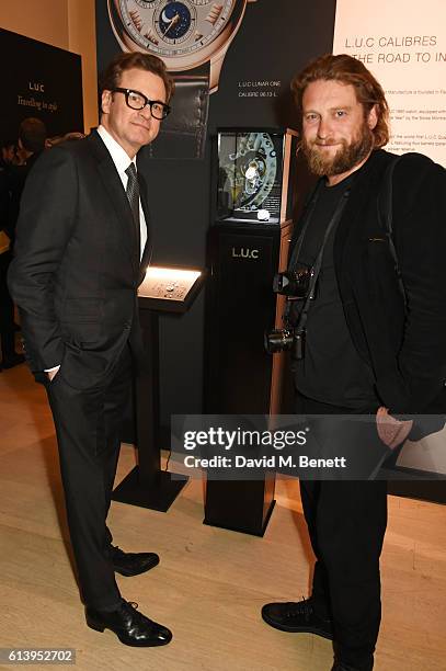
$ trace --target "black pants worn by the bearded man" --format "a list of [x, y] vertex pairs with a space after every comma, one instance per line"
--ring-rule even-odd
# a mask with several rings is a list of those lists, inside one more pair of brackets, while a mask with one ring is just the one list
[[[298, 396], [297, 412], [352, 410]], [[379, 556], [387, 526], [387, 482], [301, 480], [300, 494], [317, 557], [316, 607], [333, 618], [339, 658], [354, 668], [371, 669], [381, 619]]]

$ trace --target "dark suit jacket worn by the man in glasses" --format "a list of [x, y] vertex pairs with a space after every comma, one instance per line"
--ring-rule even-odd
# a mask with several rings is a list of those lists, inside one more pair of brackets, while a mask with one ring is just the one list
[[[146, 223], [146, 185], [140, 180]], [[122, 181], [93, 132], [46, 151], [23, 192], [9, 283], [36, 378], [61, 364], [78, 389], [101, 385], [125, 343], [142, 359], [135, 225]]]

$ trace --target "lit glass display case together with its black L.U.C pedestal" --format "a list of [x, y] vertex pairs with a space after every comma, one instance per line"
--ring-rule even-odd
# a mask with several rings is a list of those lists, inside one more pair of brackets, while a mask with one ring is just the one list
[[[219, 129], [214, 145], [208, 234], [205, 412], [277, 414], [284, 353], [265, 352], [282, 328], [273, 277], [287, 265], [297, 181], [297, 133]], [[255, 481], [207, 479], [205, 523], [263, 535], [274, 508], [274, 471]]]

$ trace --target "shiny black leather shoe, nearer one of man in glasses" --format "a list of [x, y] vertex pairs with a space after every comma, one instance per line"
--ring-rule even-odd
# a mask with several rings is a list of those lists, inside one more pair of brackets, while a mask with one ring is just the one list
[[127, 601], [123, 601], [116, 611], [95, 611], [87, 607], [87, 624], [96, 632], [111, 629], [125, 646], [149, 648], [170, 642], [172, 632], [138, 613], [137, 607], [137, 603]]

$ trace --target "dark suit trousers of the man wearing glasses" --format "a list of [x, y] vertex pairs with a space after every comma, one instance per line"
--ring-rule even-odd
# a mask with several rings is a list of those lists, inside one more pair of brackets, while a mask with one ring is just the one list
[[106, 525], [121, 446], [123, 410], [131, 388], [128, 344], [100, 387], [75, 389], [64, 364], [46, 384], [56, 427], [68, 526], [85, 605], [113, 610], [121, 602]]

